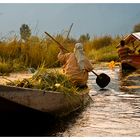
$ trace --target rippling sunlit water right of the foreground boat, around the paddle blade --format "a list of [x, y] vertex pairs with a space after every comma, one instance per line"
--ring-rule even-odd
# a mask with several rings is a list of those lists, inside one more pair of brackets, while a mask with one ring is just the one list
[[90, 73], [92, 102], [70, 120], [62, 121], [52, 136], [140, 136], [140, 72], [122, 77], [119, 68], [95, 70], [111, 77], [104, 89]]

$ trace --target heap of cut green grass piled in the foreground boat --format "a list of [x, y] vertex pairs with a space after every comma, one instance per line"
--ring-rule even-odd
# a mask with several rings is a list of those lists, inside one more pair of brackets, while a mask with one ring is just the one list
[[41, 90], [59, 91], [63, 93], [77, 93], [78, 89], [69, 81], [69, 79], [58, 71], [48, 71], [39, 69], [28, 79], [15, 80], [8, 82], [7, 85], [33, 88]]

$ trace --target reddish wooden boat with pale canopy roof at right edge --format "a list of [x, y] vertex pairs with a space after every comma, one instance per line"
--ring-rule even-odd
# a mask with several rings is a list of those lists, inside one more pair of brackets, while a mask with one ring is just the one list
[[[130, 72], [140, 69], [140, 32], [131, 33], [123, 40], [134, 51], [134, 53], [121, 60], [122, 71]], [[120, 44], [117, 46], [117, 48], [119, 47]]]

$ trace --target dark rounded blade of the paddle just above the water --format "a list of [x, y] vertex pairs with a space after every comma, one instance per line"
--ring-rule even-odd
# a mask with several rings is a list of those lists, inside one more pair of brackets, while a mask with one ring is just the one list
[[96, 83], [100, 88], [106, 87], [110, 82], [110, 77], [105, 73], [101, 73], [96, 78]]

